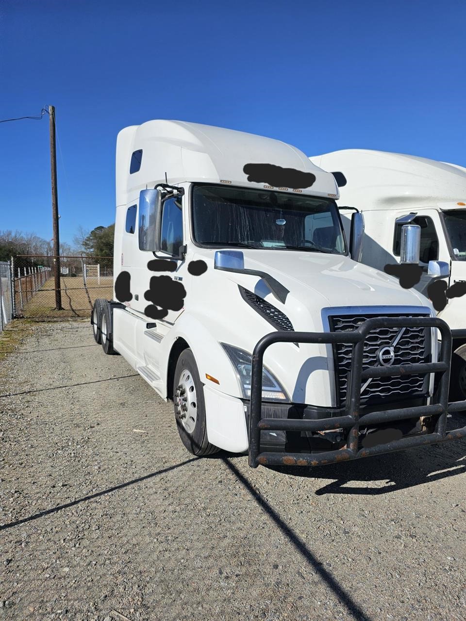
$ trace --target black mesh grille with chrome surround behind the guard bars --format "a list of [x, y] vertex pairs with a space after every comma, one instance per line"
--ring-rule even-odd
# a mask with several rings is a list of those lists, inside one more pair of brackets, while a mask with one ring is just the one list
[[[332, 332], [356, 330], [366, 319], [380, 315], [333, 315], [329, 317]], [[387, 314], [385, 317], [424, 317], [421, 314]], [[377, 366], [377, 353], [381, 347], [393, 343], [400, 328], [376, 328], [371, 330], [364, 343], [363, 369]], [[393, 365], [406, 363], [423, 363], [430, 361], [430, 330], [424, 327], [404, 328], [403, 334], [395, 345]], [[348, 377], [351, 368], [352, 346], [345, 343], [334, 345], [335, 378], [339, 406], [345, 404], [348, 390]], [[410, 375], [406, 377], [373, 378], [361, 386], [361, 404], [373, 404], [382, 401], [396, 401], [406, 396], [426, 394], [428, 376]]]

